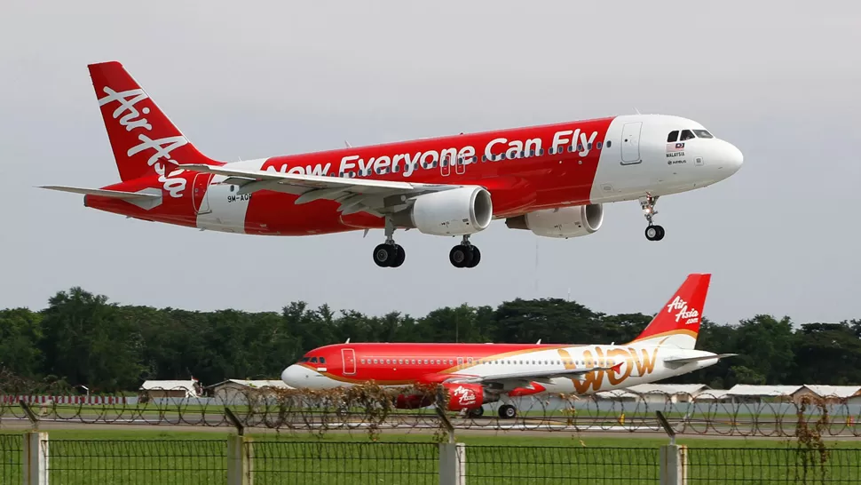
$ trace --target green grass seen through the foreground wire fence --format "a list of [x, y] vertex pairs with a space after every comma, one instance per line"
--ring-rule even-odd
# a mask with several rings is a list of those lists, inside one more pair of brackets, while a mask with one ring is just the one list
[[[459, 433], [466, 446], [467, 483], [657, 483], [660, 445], [667, 439]], [[220, 432], [135, 427], [51, 430], [51, 483], [226, 482], [226, 438]], [[427, 433], [255, 433], [254, 482], [328, 484], [438, 483], [438, 447]], [[20, 483], [20, 433], [0, 430], [0, 483]], [[688, 447], [690, 483], [861, 483], [861, 440], [826, 441], [824, 466], [809, 465], [791, 440], [680, 437]], [[823, 475], [823, 470], [825, 474]]]

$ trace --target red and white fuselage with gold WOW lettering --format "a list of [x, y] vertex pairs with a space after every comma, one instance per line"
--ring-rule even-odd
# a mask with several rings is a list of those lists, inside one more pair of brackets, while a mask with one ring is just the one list
[[[510, 397], [541, 393], [594, 394], [671, 378], [714, 365], [718, 358], [667, 365], [664, 359], [714, 355], [658, 345], [385, 344], [322, 346], [281, 373], [296, 388], [328, 389], [370, 381], [410, 386], [455, 376], [500, 376], [526, 372], [592, 369], [575, 378], [549, 378], [500, 389]], [[530, 379], [526, 379], [530, 380]], [[538, 380], [538, 379], [536, 379]]]

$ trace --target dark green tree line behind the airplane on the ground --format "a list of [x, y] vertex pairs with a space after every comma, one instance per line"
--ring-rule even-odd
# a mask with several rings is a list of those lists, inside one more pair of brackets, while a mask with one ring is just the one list
[[[122, 306], [75, 287], [40, 311], [0, 310], [0, 368], [59, 379], [93, 393], [135, 391], [144, 379], [278, 378], [317, 346], [344, 342], [624, 343], [649, 314], [602, 314], [557, 298], [456, 306], [421, 317], [369, 316], [293, 302], [279, 312], [213, 312]], [[697, 348], [734, 353], [674, 381], [735, 384], [861, 384], [861, 320], [797, 324], [757, 314], [733, 324], [703, 318]], [[674, 382], [667, 380], [666, 382]]]

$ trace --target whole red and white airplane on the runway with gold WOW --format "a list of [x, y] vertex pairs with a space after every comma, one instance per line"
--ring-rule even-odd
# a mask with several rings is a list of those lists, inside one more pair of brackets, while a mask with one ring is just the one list
[[[502, 401], [500, 417], [515, 417], [512, 397], [593, 394], [671, 378], [723, 357], [694, 350], [711, 274], [689, 274], [652, 322], [627, 344], [394, 344], [322, 346], [281, 372], [288, 386], [328, 389], [370, 381], [384, 387], [441, 384], [449, 409], [481, 416]], [[399, 408], [430, 405], [402, 394]]]

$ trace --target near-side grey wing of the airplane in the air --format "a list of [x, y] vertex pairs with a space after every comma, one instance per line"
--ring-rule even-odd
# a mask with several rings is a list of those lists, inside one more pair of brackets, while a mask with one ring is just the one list
[[223, 183], [240, 186], [238, 192], [240, 195], [257, 190], [273, 190], [299, 195], [296, 204], [310, 203], [319, 199], [334, 200], [341, 203], [338, 211], [344, 215], [366, 211], [375, 216], [382, 216], [385, 212], [405, 208], [407, 198], [464, 187], [234, 169], [227, 165], [214, 166], [203, 163], [176, 163], [174, 166], [187, 171], [223, 175], [227, 177]]

